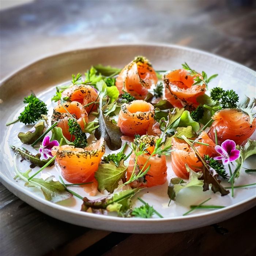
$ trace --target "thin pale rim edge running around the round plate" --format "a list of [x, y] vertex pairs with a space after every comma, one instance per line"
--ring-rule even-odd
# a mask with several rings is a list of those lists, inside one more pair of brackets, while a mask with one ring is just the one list
[[[30, 68], [32, 65], [38, 64], [41, 61], [45, 61], [47, 59], [52, 59], [52, 58], [56, 58], [56, 57], [61, 57], [61, 56], [65, 56], [66, 54], [72, 54], [72, 53], [79, 53], [79, 52], [83, 52], [84, 50], [93, 50], [93, 49], [102, 49], [102, 48], [116, 48], [116, 47], [125, 47], [125, 46], [129, 46], [129, 47], [167, 47], [167, 48], [174, 48], [174, 49], [181, 49], [181, 50], [187, 50], [190, 52], [196, 52], [196, 53], [200, 53], [200, 54], [204, 54], [207, 55], [209, 57], [214, 57], [216, 59], [225, 61], [227, 63], [233, 64], [235, 66], [239, 66], [243, 69], [246, 69], [248, 72], [250, 72], [251, 74], [256, 74], [256, 72], [251, 69], [248, 68], [240, 63], [237, 63], [236, 61], [233, 60], [229, 60], [226, 59], [225, 57], [221, 57], [218, 56], [216, 54], [213, 53], [209, 53], [206, 52], [204, 50], [199, 50], [199, 49], [195, 49], [195, 48], [190, 48], [187, 46], [180, 46], [180, 45], [174, 45], [174, 44], [163, 44], [163, 43], [143, 43], [143, 44], [138, 44], [138, 43], [132, 43], [132, 44], [114, 44], [114, 45], [102, 45], [102, 46], [89, 46], [89, 47], [85, 47], [85, 48], [79, 48], [79, 49], [75, 49], [75, 50], [69, 50], [69, 51], [63, 51], [60, 53], [56, 53], [56, 54], [50, 54], [50, 55], [46, 55], [46, 56], [42, 56], [40, 59], [36, 59], [34, 61], [29, 62], [29, 64], [23, 65], [21, 68], [16, 69], [15, 71], [11, 72], [9, 75], [5, 76], [3, 79], [1, 79], [0, 81], [0, 88], [3, 86], [3, 84], [5, 82], [7, 82], [9, 79], [11, 79], [13, 76], [15, 76], [16, 74], [18, 74], [19, 72], [22, 72], [23, 70]], [[188, 221], [188, 220], [193, 220], [196, 218], [201, 218], [201, 217], [210, 217], [211, 215], [216, 215], [216, 214], [222, 214], [225, 211], [232, 211], [237, 207], [240, 207], [241, 205], [249, 205], [249, 203], [253, 202], [253, 200], [256, 199], [256, 195], [255, 196], [251, 196], [248, 199], [242, 200], [238, 203], [235, 203], [231, 206], [227, 206], [225, 208], [222, 209], [218, 209], [218, 210], [213, 210], [210, 212], [203, 212], [203, 213], [199, 213], [199, 214], [193, 214], [193, 215], [186, 215], [186, 216], [176, 216], [176, 217], [165, 217], [165, 218], [152, 218], [152, 219], [143, 219], [143, 218], [120, 218], [120, 217], [115, 217], [115, 216], [108, 216], [108, 215], [97, 215], [97, 214], [93, 214], [90, 212], [82, 212], [82, 211], [78, 211], [78, 210], [74, 210], [65, 206], [62, 206], [60, 204], [56, 204], [56, 203], [52, 203], [50, 201], [47, 201], [46, 199], [38, 196], [37, 194], [34, 194], [33, 192], [29, 191], [28, 189], [26, 189], [25, 187], [21, 187], [18, 184], [16, 184], [13, 180], [11, 180], [10, 178], [8, 178], [5, 174], [3, 174], [2, 172], [0, 172], [0, 181], [3, 182], [3, 184], [5, 185], [5, 183], [7, 183], [8, 185], [10, 185], [11, 187], [14, 187], [14, 189], [17, 189], [18, 191], [22, 192], [23, 194], [32, 197], [34, 200], [38, 201], [39, 203], [41, 203], [42, 205], [46, 204], [47, 206], [53, 208], [54, 210], [57, 211], [65, 211], [67, 213], [70, 214], [75, 214], [75, 215], [79, 215], [80, 217], [87, 217], [90, 219], [95, 219], [95, 220], [106, 220], [106, 221], [118, 221], [118, 222], [171, 222], [171, 221]], [[256, 200], [255, 200], [255, 205], [256, 205]]]

